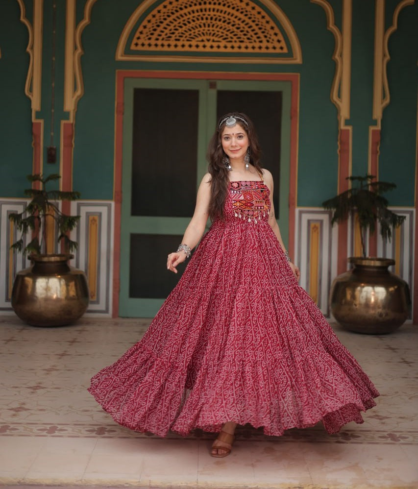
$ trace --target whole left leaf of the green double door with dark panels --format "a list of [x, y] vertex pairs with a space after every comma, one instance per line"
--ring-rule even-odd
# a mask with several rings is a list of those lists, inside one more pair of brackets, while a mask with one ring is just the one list
[[205, 166], [206, 81], [125, 81], [119, 314], [152, 317], [180, 278], [166, 268]]

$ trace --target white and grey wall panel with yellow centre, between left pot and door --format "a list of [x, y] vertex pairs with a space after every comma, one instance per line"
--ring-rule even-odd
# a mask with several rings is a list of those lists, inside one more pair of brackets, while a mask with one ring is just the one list
[[72, 214], [80, 216], [72, 239], [78, 242], [71, 264], [84, 270], [90, 292], [86, 314], [111, 315], [113, 283], [113, 202], [72, 202]]

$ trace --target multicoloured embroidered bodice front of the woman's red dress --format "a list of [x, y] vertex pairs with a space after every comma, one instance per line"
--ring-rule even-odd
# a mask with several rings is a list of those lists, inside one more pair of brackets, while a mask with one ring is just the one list
[[257, 223], [269, 219], [270, 190], [261, 180], [229, 182], [232, 215]]

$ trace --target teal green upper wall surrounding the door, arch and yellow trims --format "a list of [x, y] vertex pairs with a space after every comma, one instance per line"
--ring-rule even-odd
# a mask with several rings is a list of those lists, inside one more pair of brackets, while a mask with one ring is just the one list
[[[325, 11], [308, 0], [281, 0], [299, 37], [302, 65], [239, 65], [116, 62], [120, 34], [138, 0], [100, 0], [92, 8], [91, 24], [82, 33], [81, 57], [84, 95], [78, 102], [74, 138], [74, 190], [83, 199], [113, 198], [115, 79], [118, 69], [183, 71], [258, 71], [300, 73], [300, 113], [298, 147], [297, 205], [320, 206], [337, 191], [338, 121], [330, 100], [335, 74], [332, 60], [334, 35], [326, 28]], [[387, 25], [392, 23], [397, 1], [386, 2]], [[44, 146], [50, 142], [50, 77], [52, 0], [44, 1], [44, 52], [42, 110], [37, 118], [45, 121]], [[85, 0], [77, 0], [77, 23], [83, 17]], [[260, 3], [260, 5], [262, 5]], [[26, 16], [32, 22], [32, 1], [25, 0]], [[342, 0], [332, 2], [335, 21], [341, 29]], [[415, 154], [417, 131], [417, 5], [400, 13], [398, 30], [390, 39], [391, 61], [388, 77], [391, 104], [382, 121], [379, 178], [394, 181], [398, 189], [388, 195], [392, 205], [414, 205]], [[30, 100], [24, 94], [29, 62], [25, 52], [28, 33], [19, 21], [17, 1], [1, 2], [0, 106], [0, 197], [22, 196], [25, 175], [32, 167]], [[55, 66], [55, 139], [59, 147], [63, 111], [65, 2], [57, 1]], [[353, 174], [364, 174], [368, 165], [369, 126], [372, 119], [374, 49], [374, 2], [353, 0], [353, 41], [351, 69], [351, 113], [347, 124], [353, 127]], [[266, 108], [267, 110], [268, 108]], [[59, 148], [58, 148], [59, 149]], [[58, 163], [46, 163], [44, 172], [59, 171]], [[4, 175], [4, 177], [3, 177]]]

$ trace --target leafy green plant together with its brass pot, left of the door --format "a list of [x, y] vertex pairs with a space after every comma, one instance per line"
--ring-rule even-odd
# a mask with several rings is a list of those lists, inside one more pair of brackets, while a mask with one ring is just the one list
[[[69, 266], [74, 257], [70, 252], [77, 243], [70, 239], [80, 219], [70, 216], [59, 208], [59, 201], [75, 200], [78, 192], [47, 190], [50, 182], [59, 180], [59, 174], [44, 177], [37, 173], [27, 175], [32, 182], [39, 182], [39, 189], [25, 190], [30, 202], [21, 213], [10, 214], [21, 237], [11, 248], [28, 254], [32, 266], [18, 272], [12, 290], [12, 307], [17, 316], [33, 326], [61, 326], [80, 318], [87, 309], [89, 293], [83, 271]], [[52, 226], [52, 229], [49, 227]], [[27, 233], [31, 239], [25, 244]], [[62, 253], [48, 249], [47, 237], [56, 234]]]

